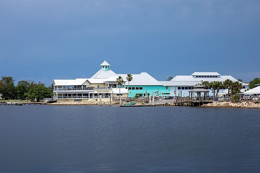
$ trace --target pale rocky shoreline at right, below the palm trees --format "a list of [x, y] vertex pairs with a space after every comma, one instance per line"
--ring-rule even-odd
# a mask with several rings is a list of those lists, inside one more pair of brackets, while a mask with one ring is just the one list
[[209, 104], [204, 104], [200, 107], [213, 107], [213, 108], [260, 108], [260, 103], [254, 102], [241, 102], [241, 103], [233, 103], [233, 102], [213, 102]]

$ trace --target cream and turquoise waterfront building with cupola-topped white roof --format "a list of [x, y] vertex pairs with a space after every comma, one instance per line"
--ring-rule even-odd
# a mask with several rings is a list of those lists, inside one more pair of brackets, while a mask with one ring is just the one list
[[[117, 74], [110, 69], [110, 64], [104, 61], [98, 70], [90, 78], [54, 79], [53, 93], [57, 101], [98, 101], [109, 100], [110, 96], [127, 97], [128, 81], [127, 74]], [[146, 72], [132, 74], [133, 80], [129, 85], [129, 97], [135, 96], [169, 96], [170, 87], [163, 86], [154, 77]], [[123, 78], [122, 85], [118, 85], [116, 78]], [[119, 93], [120, 87], [120, 93]]]

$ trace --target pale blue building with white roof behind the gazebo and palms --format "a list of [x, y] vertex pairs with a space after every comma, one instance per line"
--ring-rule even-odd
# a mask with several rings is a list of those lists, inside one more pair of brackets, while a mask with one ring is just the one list
[[[171, 81], [159, 81], [162, 85], [170, 88], [170, 96], [189, 96], [189, 90], [197, 84], [201, 84], [202, 81], [221, 81], [230, 79], [235, 82], [238, 81], [230, 75], [220, 75], [218, 72], [194, 72], [191, 75], [177, 75]], [[248, 88], [248, 84], [242, 83], [243, 88]], [[209, 96], [213, 96], [212, 88], [206, 88], [210, 90]], [[226, 88], [221, 88], [220, 92], [223, 92]], [[216, 91], [215, 91], [216, 94]], [[194, 95], [195, 96], [195, 95]]]

